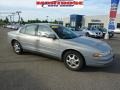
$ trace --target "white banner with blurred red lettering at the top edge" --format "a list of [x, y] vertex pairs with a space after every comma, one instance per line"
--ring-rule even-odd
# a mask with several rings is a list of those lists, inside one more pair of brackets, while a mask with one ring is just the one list
[[37, 0], [38, 8], [82, 8], [84, 0]]

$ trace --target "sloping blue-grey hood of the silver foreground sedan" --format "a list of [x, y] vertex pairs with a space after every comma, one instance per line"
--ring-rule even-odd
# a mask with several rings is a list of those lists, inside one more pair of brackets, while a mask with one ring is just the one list
[[93, 39], [90, 37], [86, 37], [86, 36], [74, 38], [74, 39], [71, 39], [70, 41], [95, 48], [102, 52], [106, 52], [111, 49], [111, 47], [106, 42], [100, 41], [97, 39]]

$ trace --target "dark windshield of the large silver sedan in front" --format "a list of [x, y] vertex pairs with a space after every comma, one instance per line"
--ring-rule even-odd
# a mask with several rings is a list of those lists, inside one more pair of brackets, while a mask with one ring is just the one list
[[69, 30], [66, 27], [60, 25], [51, 25], [50, 27], [56, 32], [56, 34], [61, 39], [73, 39], [78, 37], [75, 33], [73, 33], [71, 30]]

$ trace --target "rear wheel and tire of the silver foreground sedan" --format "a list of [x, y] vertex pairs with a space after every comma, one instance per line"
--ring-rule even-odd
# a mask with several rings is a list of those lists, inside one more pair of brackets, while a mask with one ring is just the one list
[[13, 50], [16, 54], [20, 55], [23, 53], [21, 44], [18, 41], [14, 41], [12, 44]]

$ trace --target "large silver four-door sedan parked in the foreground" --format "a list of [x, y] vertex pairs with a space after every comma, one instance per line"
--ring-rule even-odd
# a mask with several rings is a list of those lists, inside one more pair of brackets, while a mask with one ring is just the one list
[[113, 61], [112, 48], [105, 42], [77, 36], [56, 24], [30, 24], [8, 32], [9, 43], [17, 54], [25, 50], [39, 52], [64, 61], [70, 70], [83, 66], [105, 66]]

